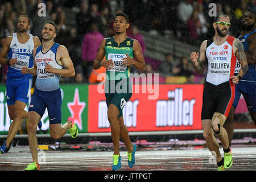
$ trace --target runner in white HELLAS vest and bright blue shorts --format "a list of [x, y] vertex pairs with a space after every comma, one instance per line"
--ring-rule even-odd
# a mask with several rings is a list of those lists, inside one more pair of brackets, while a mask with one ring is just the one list
[[[9, 127], [6, 142], [0, 147], [0, 154], [9, 150], [9, 146], [18, 132], [22, 119], [28, 118], [28, 112], [24, 110], [30, 97], [32, 84], [31, 75], [23, 75], [20, 70], [24, 65], [33, 67], [32, 51], [41, 45], [38, 37], [28, 34], [30, 18], [20, 15], [16, 30], [12, 36], [8, 36], [3, 43], [0, 53], [0, 64], [9, 65], [6, 81], [6, 100], [9, 117], [13, 122]], [[8, 59], [5, 59], [8, 53]]]

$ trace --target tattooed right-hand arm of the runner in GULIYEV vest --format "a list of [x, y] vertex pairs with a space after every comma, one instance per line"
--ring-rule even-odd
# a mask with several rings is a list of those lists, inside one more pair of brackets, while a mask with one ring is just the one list
[[240, 69], [238, 75], [243, 77], [243, 75], [245, 75], [245, 73], [248, 70], [248, 63], [247, 63], [245, 51], [243, 51], [243, 44], [238, 39], [235, 39], [233, 44], [234, 44], [233, 51], [235, 52], [235, 55], [236, 55], [239, 63], [241, 64], [241, 69]]

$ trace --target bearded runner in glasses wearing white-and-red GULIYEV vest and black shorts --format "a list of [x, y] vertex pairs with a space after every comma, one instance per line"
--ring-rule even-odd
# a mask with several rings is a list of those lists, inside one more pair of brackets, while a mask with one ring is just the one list
[[[197, 73], [203, 72], [207, 66], [201, 119], [207, 146], [216, 154], [218, 171], [224, 171], [233, 164], [228, 134], [223, 125], [234, 101], [234, 85], [240, 81], [238, 76], [234, 76], [236, 57], [241, 64], [238, 75], [243, 77], [248, 69], [242, 43], [228, 35], [230, 25], [227, 15], [217, 15], [213, 23], [213, 39], [205, 40], [201, 44], [200, 56], [198, 52], [191, 53], [191, 60]], [[224, 159], [221, 157], [220, 146], [214, 133], [223, 145]]]

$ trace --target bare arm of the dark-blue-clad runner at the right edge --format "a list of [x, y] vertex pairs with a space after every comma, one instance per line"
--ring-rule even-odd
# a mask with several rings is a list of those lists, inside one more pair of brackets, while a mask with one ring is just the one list
[[256, 33], [249, 35], [247, 42], [249, 43], [248, 52], [245, 52], [247, 63], [254, 65], [256, 63]]

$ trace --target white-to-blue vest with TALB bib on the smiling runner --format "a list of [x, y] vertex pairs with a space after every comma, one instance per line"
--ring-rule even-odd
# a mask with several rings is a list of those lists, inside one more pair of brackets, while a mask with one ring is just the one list
[[42, 52], [42, 45], [36, 49], [35, 64], [38, 70], [35, 86], [42, 91], [53, 91], [60, 88], [59, 80], [60, 75], [55, 73], [48, 73], [46, 71], [46, 63], [56, 69], [63, 69], [63, 65], [57, 63], [56, 52], [60, 46], [54, 43], [53, 46], [46, 53]]

